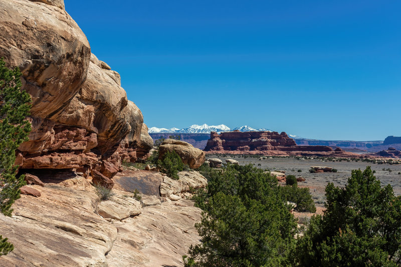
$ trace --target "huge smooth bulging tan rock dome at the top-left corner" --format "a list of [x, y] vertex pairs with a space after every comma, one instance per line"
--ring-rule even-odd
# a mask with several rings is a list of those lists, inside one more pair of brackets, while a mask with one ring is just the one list
[[74, 20], [56, 7], [63, 7], [63, 1], [41, 2], [48, 5], [0, 1], [0, 55], [20, 67], [23, 87], [32, 96], [32, 116], [48, 119], [68, 105], [85, 81], [90, 46]]

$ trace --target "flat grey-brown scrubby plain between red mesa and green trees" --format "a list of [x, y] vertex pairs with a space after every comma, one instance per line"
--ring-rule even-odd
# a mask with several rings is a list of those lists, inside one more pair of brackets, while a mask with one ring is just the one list
[[[393, 187], [395, 195], [401, 195], [401, 164], [373, 164], [362, 161], [322, 161], [321, 159], [305, 159], [296, 158], [269, 158], [259, 159], [253, 157], [240, 157], [240, 155], [231, 155], [223, 157], [222, 155], [207, 155], [207, 158], [220, 158], [225, 162], [228, 158], [233, 158], [240, 162], [241, 165], [254, 164], [255, 167], [261, 169], [270, 169], [272, 171], [286, 171], [286, 175], [292, 174], [296, 177], [305, 178], [305, 182], [298, 183], [299, 186], [309, 187], [312, 197], [315, 201], [318, 211], [323, 207], [325, 200], [324, 189], [328, 182], [334, 183], [335, 186], [343, 187], [347, 183], [347, 179], [351, 176], [351, 170], [364, 170], [366, 166], [370, 166], [375, 170], [375, 176], [381, 181], [382, 186], [390, 184]], [[260, 165], [259, 165], [260, 164]], [[327, 166], [337, 169], [337, 172], [310, 173], [310, 166]], [[388, 171], [388, 168], [391, 171]], [[385, 170], [383, 170], [385, 169]], [[301, 172], [298, 172], [301, 170]], [[320, 211], [321, 212], [321, 211]]]

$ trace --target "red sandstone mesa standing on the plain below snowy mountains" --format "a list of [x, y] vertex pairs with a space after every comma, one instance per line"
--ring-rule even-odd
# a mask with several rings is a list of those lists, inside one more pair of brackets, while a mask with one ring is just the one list
[[285, 132], [212, 132], [204, 150], [209, 153], [359, 157], [350, 152], [334, 152], [329, 146], [298, 146]]

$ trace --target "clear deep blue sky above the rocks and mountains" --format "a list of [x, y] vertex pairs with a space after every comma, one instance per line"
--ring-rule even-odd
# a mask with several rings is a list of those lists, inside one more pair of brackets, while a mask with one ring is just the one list
[[69, 1], [149, 126], [401, 136], [400, 1]]

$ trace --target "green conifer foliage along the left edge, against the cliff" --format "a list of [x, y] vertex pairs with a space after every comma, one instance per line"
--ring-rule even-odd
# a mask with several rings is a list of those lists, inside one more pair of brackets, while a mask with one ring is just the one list
[[[18, 68], [11, 70], [4, 59], [0, 59], [0, 212], [6, 216], [11, 216], [11, 206], [20, 198], [20, 188], [25, 184], [24, 175], [16, 177], [16, 149], [28, 141], [31, 131], [31, 124], [25, 120], [31, 108], [31, 97], [21, 91], [20, 77]], [[0, 235], [0, 256], [13, 249], [7, 238]]]

